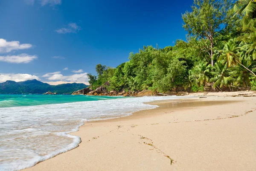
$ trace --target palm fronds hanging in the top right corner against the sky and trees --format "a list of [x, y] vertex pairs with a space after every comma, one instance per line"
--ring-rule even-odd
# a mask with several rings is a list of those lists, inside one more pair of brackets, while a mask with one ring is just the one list
[[233, 4], [233, 11], [243, 16], [241, 22], [244, 27], [250, 19], [256, 18], [256, 0], [238, 0]]

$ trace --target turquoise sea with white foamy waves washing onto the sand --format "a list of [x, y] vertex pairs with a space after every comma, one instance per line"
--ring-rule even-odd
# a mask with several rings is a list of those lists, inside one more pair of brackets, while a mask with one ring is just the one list
[[[0, 171], [31, 167], [76, 148], [81, 142], [80, 137], [67, 133], [78, 130], [84, 122], [128, 116], [135, 111], [157, 107], [143, 102], [179, 98], [71, 95], [5, 95], [5, 97], [7, 98], [3, 99], [2, 96], [0, 100]], [[68, 101], [72, 103], [63, 103]], [[35, 104], [45, 105], [33, 106]]]

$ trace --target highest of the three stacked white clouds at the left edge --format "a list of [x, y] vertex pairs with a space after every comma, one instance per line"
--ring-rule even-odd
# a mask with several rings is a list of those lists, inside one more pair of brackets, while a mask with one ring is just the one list
[[12, 50], [29, 49], [32, 44], [20, 44], [19, 41], [6, 41], [0, 38], [0, 53], [8, 53]]

